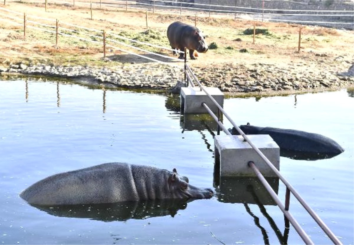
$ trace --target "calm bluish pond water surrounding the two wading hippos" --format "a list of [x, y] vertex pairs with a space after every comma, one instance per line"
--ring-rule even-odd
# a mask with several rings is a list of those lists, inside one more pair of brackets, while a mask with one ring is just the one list
[[[0, 80], [0, 243], [303, 244], [252, 180], [188, 204], [44, 209], [19, 197], [49, 175], [113, 161], [176, 167], [191, 184], [213, 188], [212, 134], [198, 119], [181, 120], [166, 101], [173, 98], [63, 81]], [[354, 92], [229, 98], [224, 109], [239, 125], [320, 133], [345, 149], [325, 160], [281, 157], [280, 172], [343, 244], [354, 244]], [[284, 185], [273, 184], [284, 201]], [[315, 244], [332, 244], [293, 196], [290, 211]]]

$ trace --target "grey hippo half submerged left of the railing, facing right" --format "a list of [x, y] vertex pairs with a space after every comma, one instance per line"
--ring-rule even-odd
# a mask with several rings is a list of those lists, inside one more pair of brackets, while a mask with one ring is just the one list
[[49, 176], [20, 196], [32, 205], [99, 204], [150, 199], [206, 199], [213, 191], [152, 166], [105, 163]]

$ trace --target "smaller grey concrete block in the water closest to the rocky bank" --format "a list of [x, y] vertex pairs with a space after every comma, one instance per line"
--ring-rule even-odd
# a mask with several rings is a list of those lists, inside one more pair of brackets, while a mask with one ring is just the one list
[[[217, 87], [204, 87], [218, 104], [224, 106], [224, 94]], [[211, 101], [199, 87], [182, 87], [181, 88], [181, 112], [186, 113], [208, 113], [202, 106], [205, 103], [213, 113], [217, 113], [217, 106]]]

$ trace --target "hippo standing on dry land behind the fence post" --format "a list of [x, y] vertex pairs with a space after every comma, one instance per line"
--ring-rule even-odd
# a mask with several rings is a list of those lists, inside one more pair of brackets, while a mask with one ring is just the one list
[[[179, 21], [173, 22], [167, 28], [167, 38], [170, 41], [172, 49], [184, 51], [184, 48], [189, 49], [189, 57], [196, 59], [194, 51], [205, 53], [208, 51], [208, 45], [205, 42], [205, 36], [196, 27]], [[173, 51], [173, 55], [177, 55]], [[179, 59], [184, 58], [184, 53], [179, 54]]]

